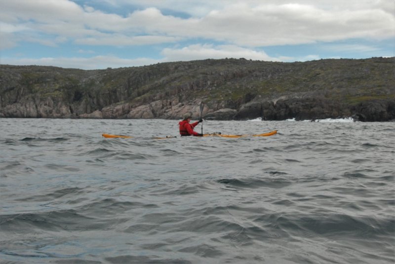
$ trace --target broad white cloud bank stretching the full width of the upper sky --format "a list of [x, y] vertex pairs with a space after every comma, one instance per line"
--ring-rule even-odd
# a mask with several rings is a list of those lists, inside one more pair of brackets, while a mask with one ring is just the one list
[[[128, 1], [113, 2], [122, 5]], [[203, 0], [182, 2], [181, 7], [177, 7], [177, 2], [180, 3], [129, 1], [145, 9], [122, 16], [90, 5], [80, 6], [71, 0], [1, 0], [0, 17], [7, 31], [28, 28], [36, 34], [77, 38], [77, 43], [92, 45], [119, 45], [111, 41], [113, 37], [119, 39], [121, 45], [204, 38], [230, 45], [262, 47], [395, 36], [394, 14], [384, 9], [390, 6], [391, 0], [370, 1], [372, 3], [364, 0], [347, 3]], [[197, 4], [205, 11], [192, 13], [189, 18], [164, 15], [160, 11], [160, 8], [187, 11]], [[142, 40], [143, 36], [149, 40]]]

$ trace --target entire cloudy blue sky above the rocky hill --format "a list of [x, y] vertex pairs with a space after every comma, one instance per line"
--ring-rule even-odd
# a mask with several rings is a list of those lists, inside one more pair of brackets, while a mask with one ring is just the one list
[[0, 0], [0, 64], [395, 56], [395, 0]]

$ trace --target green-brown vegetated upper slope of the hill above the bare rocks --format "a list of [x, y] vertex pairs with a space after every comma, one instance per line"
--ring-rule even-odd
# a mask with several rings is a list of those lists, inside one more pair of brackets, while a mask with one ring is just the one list
[[161, 63], [84, 71], [0, 66], [0, 110], [50, 98], [73, 113], [158, 100], [203, 100], [213, 111], [261, 100], [325, 98], [346, 105], [394, 99], [394, 58], [281, 63], [245, 59]]

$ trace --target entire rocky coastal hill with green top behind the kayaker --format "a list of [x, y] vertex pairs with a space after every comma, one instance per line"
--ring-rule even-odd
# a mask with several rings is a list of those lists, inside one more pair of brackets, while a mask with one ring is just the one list
[[0, 66], [0, 117], [395, 119], [394, 58], [245, 59], [83, 71]]

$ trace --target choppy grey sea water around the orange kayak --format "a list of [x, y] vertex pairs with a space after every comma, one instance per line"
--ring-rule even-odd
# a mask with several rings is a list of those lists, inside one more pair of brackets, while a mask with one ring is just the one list
[[395, 122], [177, 122], [0, 119], [0, 260], [395, 262]]

